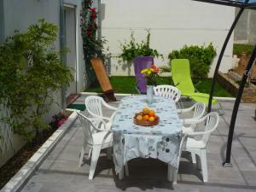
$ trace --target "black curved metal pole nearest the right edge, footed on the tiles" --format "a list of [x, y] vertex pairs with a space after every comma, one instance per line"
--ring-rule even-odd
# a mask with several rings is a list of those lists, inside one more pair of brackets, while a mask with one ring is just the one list
[[242, 95], [244, 86], [247, 83], [247, 77], [250, 73], [251, 68], [253, 67], [255, 57], [256, 57], [256, 44], [255, 44], [254, 49], [253, 49], [253, 54], [251, 55], [251, 58], [248, 61], [247, 68], [245, 69], [245, 71], [242, 75], [241, 84], [239, 86], [239, 90], [238, 90], [238, 93], [237, 93], [237, 96], [236, 96], [236, 102], [235, 102], [233, 112], [232, 112], [232, 117], [231, 117], [231, 120], [230, 120], [230, 131], [229, 131], [227, 150], [226, 150], [226, 160], [224, 161], [223, 166], [232, 166], [230, 164], [230, 155], [231, 155], [233, 134], [234, 134], [235, 124], [236, 124], [237, 111], [238, 111], [238, 108], [239, 108], [239, 104], [241, 102], [241, 95]]

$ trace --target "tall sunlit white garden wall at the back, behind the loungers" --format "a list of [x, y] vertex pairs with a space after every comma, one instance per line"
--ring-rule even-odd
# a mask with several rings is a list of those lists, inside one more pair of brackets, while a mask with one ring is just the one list
[[[146, 38], [150, 29], [151, 47], [167, 55], [183, 45], [203, 45], [212, 42], [219, 54], [224, 38], [235, 17], [235, 9], [198, 3], [190, 0], [102, 0], [102, 36], [108, 40], [113, 55], [121, 53], [120, 42], [130, 40], [131, 31], [137, 41]], [[232, 66], [233, 37], [224, 53], [220, 71], [227, 72]], [[209, 76], [212, 77], [217, 57], [212, 63]], [[168, 63], [167, 59], [155, 60], [159, 66]], [[122, 67], [123, 61], [112, 58], [113, 75], [134, 75]]]

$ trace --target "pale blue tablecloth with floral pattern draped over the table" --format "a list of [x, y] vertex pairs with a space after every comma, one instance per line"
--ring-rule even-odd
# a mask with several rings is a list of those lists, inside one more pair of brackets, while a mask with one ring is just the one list
[[[159, 125], [145, 127], [133, 123], [135, 113], [146, 106], [160, 117]], [[146, 96], [125, 96], [113, 119], [112, 130], [116, 173], [128, 160], [137, 157], [157, 158], [177, 168], [182, 122], [171, 99], [154, 96], [154, 102], [148, 105]]]

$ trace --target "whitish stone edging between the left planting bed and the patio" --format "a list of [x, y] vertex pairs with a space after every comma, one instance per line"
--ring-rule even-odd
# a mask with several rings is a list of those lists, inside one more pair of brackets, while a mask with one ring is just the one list
[[77, 113], [72, 113], [67, 121], [56, 130], [51, 137], [32, 155], [32, 157], [21, 167], [20, 171], [12, 177], [8, 183], [1, 189], [1, 192], [16, 192], [20, 191], [27, 183], [32, 174], [36, 172], [38, 166], [47, 158], [48, 154], [55, 148], [55, 145], [60, 142], [67, 130], [73, 125], [78, 118]]

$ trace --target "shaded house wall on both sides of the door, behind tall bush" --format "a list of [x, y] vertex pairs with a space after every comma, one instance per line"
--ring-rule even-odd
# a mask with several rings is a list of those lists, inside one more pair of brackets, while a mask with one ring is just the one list
[[[73, 4], [77, 8], [78, 91], [84, 88], [84, 59], [79, 27], [81, 1], [82, 0], [65, 1], [65, 3]], [[2, 6], [0, 7], [0, 43], [3, 42], [3, 39], [14, 35], [15, 30], [26, 32], [27, 27], [38, 23], [39, 19], [44, 18], [46, 21], [60, 27], [60, 0], [0, 0], [0, 6]], [[57, 39], [55, 48], [60, 49], [60, 41], [59, 38]], [[44, 115], [45, 122], [49, 122], [52, 115], [61, 111], [61, 91], [55, 94], [55, 102], [59, 104], [54, 104], [49, 113]], [[24, 139], [15, 135], [15, 150], [0, 158], [0, 166], [15, 154], [24, 143]]]

